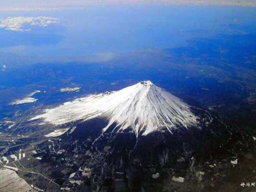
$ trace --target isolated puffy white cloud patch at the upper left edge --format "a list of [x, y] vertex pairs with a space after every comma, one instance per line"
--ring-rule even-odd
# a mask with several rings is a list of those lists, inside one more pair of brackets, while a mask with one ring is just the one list
[[0, 20], [0, 28], [11, 31], [30, 31], [29, 26], [46, 27], [58, 23], [60, 23], [60, 19], [53, 17], [8, 17]]

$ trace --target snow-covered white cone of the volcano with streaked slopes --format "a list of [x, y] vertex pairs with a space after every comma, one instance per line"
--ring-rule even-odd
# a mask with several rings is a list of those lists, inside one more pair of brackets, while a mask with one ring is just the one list
[[96, 117], [109, 120], [102, 132], [116, 123], [114, 132], [132, 128], [137, 136], [162, 129], [171, 132], [197, 123], [196, 116], [186, 103], [150, 81], [140, 82], [120, 91], [78, 98], [57, 108], [46, 109], [45, 113], [31, 120], [42, 119], [43, 123], [61, 125]]

